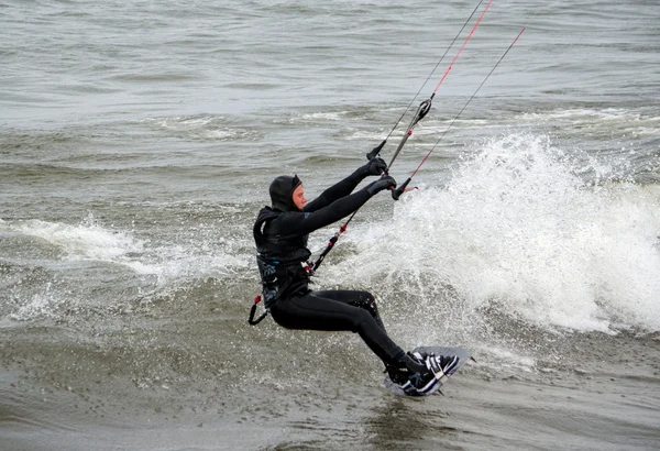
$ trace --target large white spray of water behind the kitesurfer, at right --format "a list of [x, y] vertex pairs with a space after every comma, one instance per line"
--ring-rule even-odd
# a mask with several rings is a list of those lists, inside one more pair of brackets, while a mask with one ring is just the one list
[[549, 329], [659, 330], [658, 197], [612, 182], [620, 175], [593, 158], [598, 182], [585, 182], [584, 161], [543, 136], [493, 139], [447, 186], [408, 195], [392, 221], [354, 234], [358, 253], [336, 275], [385, 277], [422, 312], [495, 309]]

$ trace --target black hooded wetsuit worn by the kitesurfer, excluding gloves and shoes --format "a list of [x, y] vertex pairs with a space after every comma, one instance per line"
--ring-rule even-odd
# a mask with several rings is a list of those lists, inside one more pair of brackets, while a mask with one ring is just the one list
[[312, 292], [304, 270], [310, 256], [307, 235], [351, 215], [374, 194], [370, 187], [351, 194], [366, 175], [358, 169], [302, 211], [292, 200], [298, 178], [276, 178], [271, 185], [273, 208], [264, 207], [254, 226], [257, 263], [266, 306], [278, 324], [356, 332], [386, 365], [396, 365], [405, 352], [385, 332], [374, 297], [367, 292]]

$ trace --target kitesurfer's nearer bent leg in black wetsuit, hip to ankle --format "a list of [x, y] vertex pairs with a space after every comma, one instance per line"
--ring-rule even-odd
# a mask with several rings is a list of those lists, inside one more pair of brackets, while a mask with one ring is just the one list
[[377, 321], [370, 310], [351, 305], [351, 299], [337, 297], [341, 300], [319, 296], [315, 292], [292, 296], [277, 301], [271, 308], [271, 314], [279, 326], [288, 329], [356, 332], [385, 364], [397, 362], [404, 350], [387, 336], [382, 321]]

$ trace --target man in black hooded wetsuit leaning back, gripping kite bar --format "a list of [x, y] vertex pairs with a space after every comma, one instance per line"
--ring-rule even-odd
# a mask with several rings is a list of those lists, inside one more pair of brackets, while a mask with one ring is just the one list
[[[385, 332], [371, 293], [308, 288], [308, 234], [348, 217], [376, 193], [396, 187], [394, 178], [382, 175], [386, 167], [382, 158], [373, 158], [310, 202], [297, 176], [275, 178], [272, 207], [262, 208], [254, 223], [256, 260], [265, 306], [279, 326], [356, 332], [383, 361], [393, 382], [408, 394], [424, 395], [450, 374], [457, 356], [404, 352]], [[382, 177], [353, 193], [370, 175]]]

